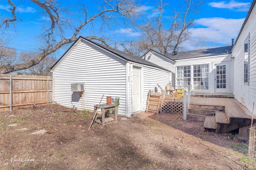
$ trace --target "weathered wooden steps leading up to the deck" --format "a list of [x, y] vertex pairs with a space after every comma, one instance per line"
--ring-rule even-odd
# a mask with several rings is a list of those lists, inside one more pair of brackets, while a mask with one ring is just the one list
[[[197, 106], [196, 106], [197, 105]], [[250, 125], [251, 117], [244, 106], [190, 104], [188, 119], [204, 121], [204, 130], [227, 133]]]

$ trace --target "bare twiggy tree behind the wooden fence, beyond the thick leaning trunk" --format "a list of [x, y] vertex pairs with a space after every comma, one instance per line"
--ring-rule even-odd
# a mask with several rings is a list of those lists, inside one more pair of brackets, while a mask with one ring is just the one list
[[[20, 63], [26, 63], [36, 57], [36, 53], [20, 53]], [[51, 67], [56, 63], [57, 59], [54, 57], [45, 57], [40, 63], [31, 66], [25, 70], [21, 70], [22, 74], [35, 75], [35, 76], [51, 76]]]

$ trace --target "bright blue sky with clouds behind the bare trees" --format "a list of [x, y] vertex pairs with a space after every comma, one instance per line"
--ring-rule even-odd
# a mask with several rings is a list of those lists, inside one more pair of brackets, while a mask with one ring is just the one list
[[[18, 52], [21, 50], [37, 52], [42, 44], [36, 36], [40, 33], [44, 25], [38, 18], [43, 18], [44, 16], [38, 15], [38, 7], [28, 0], [13, 0], [13, 2], [17, 6], [16, 16], [21, 18], [22, 21], [17, 20], [15, 30], [11, 25], [12, 29], [5, 31], [1, 37], [2, 39], [10, 39], [10, 41], [8, 41], [8, 47], [17, 49]], [[59, 0], [59, 3], [64, 6], [70, 6], [70, 2], [74, 4], [75, 1]], [[90, 8], [88, 8], [89, 10], [95, 7], [94, 0], [80, 0], [80, 2], [84, 3], [85, 6], [90, 6]], [[148, 17], [154, 17], [154, 12], [156, 12], [155, 6], [152, 5], [154, 0], [143, 2], [148, 2], [144, 6], [144, 9], [152, 14], [152, 16]], [[172, 15], [171, 11], [174, 8], [178, 8], [178, 6], [183, 3], [183, 0], [166, 0], [165, 2], [168, 3], [168, 5], [165, 6], [164, 12], [164, 15], [167, 17]], [[205, 37], [209, 47], [231, 45], [231, 39], [234, 38], [236, 40], [251, 3], [252, 0], [205, 0], [204, 4], [200, 6], [200, 12], [194, 15], [194, 24], [189, 28], [191, 32], [190, 38], [193, 41], [199, 37]], [[9, 11], [10, 5], [7, 0], [0, 0], [0, 18], [3, 19], [6, 18], [6, 16], [10, 16]], [[75, 18], [75, 16], [73, 17]], [[1, 28], [0, 31], [0, 33], [2, 33], [3, 28]], [[80, 35], [85, 37], [90, 35], [97, 35], [99, 37], [106, 36], [111, 39], [113, 38], [112, 33], [114, 33], [114, 38], [119, 40], [136, 39], [140, 35], [136, 30], [132, 28], [127, 29], [123, 25], [118, 24], [117, 27], [114, 27], [112, 30], [106, 28], [104, 32], [102, 32], [102, 28], [100, 27], [98, 30], [96, 27], [94, 30], [84, 29]], [[186, 50], [194, 49], [191, 41], [187, 41], [183, 45], [186, 47]], [[68, 49], [68, 47], [60, 49], [56, 53], [56, 58], [58, 59], [63, 55], [66, 49]]]

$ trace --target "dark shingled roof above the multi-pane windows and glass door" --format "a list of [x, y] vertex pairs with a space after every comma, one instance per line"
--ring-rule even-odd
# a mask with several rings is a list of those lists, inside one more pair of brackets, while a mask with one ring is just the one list
[[192, 51], [182, 51], [178, 52], [176, 55], [173, 53], [168, 53], [166, 56], [170, 59], [178, 60], [178, 59], [192, 59], [197, 57], [209, 57], [214, 55], [222, 55], [222, 54], [230, 54], [232, 50], [231, 46], [225, 47], [216, 47], [211, 49], [199, 49]]

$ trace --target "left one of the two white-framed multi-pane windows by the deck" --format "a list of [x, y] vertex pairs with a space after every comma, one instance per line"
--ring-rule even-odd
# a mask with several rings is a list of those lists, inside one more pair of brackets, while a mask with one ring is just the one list
[[191, 81], [191, 66], [177, 67], [177, 88], [186, 88]]

